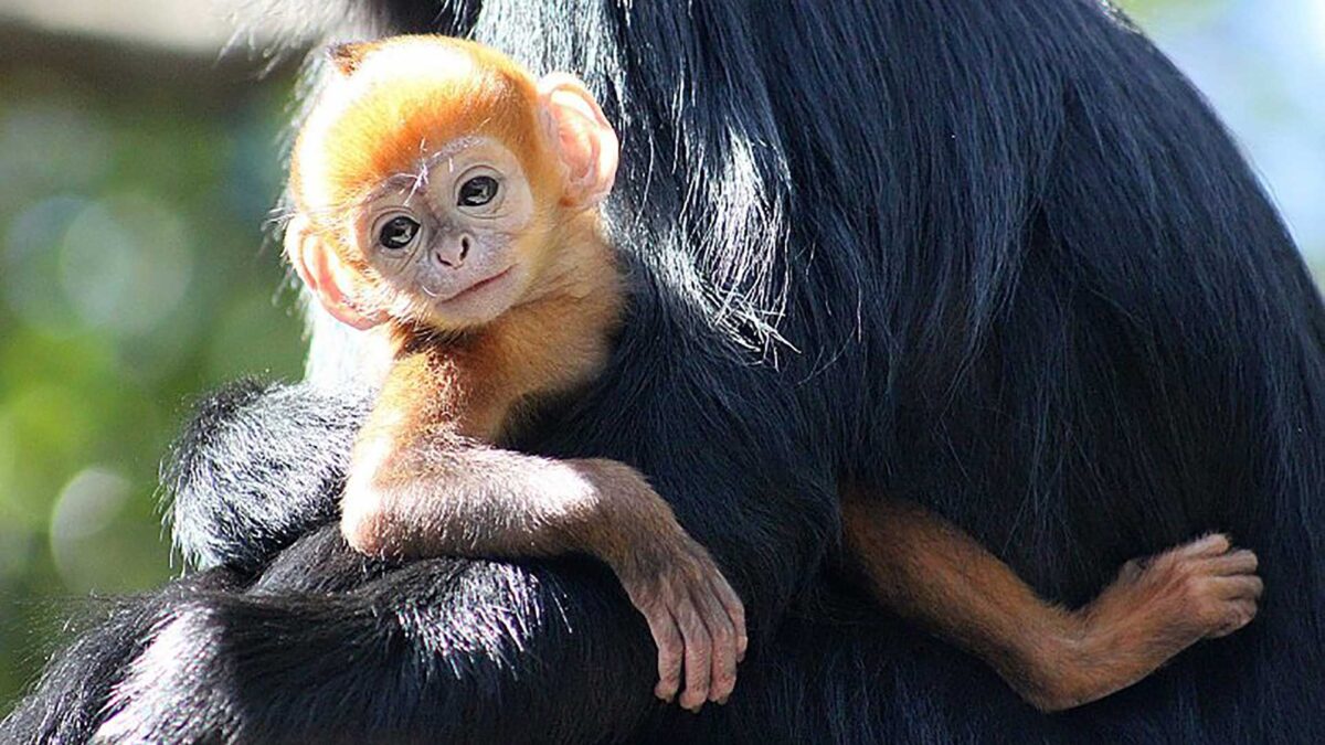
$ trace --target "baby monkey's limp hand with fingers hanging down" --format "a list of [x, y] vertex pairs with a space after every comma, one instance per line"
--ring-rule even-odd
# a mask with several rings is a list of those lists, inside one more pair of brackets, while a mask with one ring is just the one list
[[617, 574], [659, 647], [655, 695], [672, 701], [684, 667], [681, 707], [697, 712], [705, 701], [725, 704], [747, 644], [741, 598], [690, 538], [644, 551], [631, 565]]

